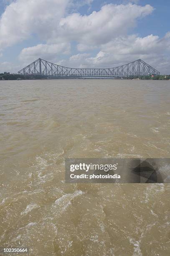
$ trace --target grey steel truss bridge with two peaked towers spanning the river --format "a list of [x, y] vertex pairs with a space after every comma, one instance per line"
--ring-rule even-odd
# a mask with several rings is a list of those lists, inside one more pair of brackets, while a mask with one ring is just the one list
[[148, 74], [159, 75], [160, 72], [141, 59], [110, 69], [75, 69], [53, 64], [43, 59], [37, 59], [21, 69], [18, 74], [39, 74], [56, 77], [134, 77]]

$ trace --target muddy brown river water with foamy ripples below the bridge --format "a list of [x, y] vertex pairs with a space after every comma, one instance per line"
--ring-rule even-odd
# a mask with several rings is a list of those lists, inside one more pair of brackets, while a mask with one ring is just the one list
[[170, 157], [170, 81], [0, 81], [0, 246], [169, 255], [169, 184], [65, 184], [67, 157]]

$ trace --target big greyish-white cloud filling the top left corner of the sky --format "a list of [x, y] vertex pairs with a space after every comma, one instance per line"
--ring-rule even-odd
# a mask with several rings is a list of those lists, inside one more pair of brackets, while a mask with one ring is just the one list
[[69, 0], [16, 0], [0, 18], [0, 49], [34, 33], [47, 40], [66, 12]]

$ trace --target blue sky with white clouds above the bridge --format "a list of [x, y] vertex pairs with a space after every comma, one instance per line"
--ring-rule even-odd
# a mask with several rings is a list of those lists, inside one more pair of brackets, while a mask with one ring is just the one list
[[170, 0], [0, 0], [0, 73], [142, 59], [170, 74]]

